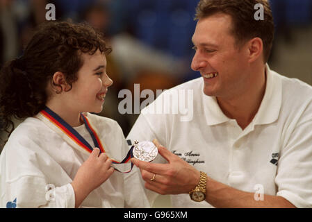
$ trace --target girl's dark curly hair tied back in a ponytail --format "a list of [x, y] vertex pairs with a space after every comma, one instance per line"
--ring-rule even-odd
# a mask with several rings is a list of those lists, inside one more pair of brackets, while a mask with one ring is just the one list
[[24, 55], [7, 62], [0, 71], [3, 129], [12, 133], [13, 118], [33, 117], [44, 108], [48, 98], [47, 85], [53, 83], [56, 71], [65, 74], [72, 88], [76, 74], [83, 66], [82, 53], [93, 55], [97, 50], [105, 55], [111, 52], [104, 36], [87, 24], [46, 22], [40, 25]]

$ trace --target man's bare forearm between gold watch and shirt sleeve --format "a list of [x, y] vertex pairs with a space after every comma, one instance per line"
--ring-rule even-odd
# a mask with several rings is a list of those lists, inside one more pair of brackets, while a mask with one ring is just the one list
[[254, 193], [240, 191], [208, 177], [206, 183], [206, 201], [213, 207], [295, 207], [281, 196], [263, 195], [263, 200], [255, 200]]

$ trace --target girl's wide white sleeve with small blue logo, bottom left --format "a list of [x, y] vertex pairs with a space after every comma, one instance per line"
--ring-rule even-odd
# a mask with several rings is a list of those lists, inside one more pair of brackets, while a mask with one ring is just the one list
[[8, 141], [3, 152], [1, 207], [74, 207], [70, 178], [56, 184], [54, 178], [64, 176], [62, 167], [33, 139], [19, 134]]

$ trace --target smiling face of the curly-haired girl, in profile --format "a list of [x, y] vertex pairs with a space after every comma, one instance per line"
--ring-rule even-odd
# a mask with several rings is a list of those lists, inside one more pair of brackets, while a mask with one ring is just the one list
[[97, 51], [90, 56], [83, 53], [83, 67], [79, 69], [78, 80], [67, 92], [69, 103], [78, 112], [101, 112], [108, 87], [113, 84], [106, 74], [106, 57]]

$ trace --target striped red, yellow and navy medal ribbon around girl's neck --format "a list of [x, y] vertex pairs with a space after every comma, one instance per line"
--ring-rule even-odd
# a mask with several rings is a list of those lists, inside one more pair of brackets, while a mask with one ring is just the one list
[[[39, 114], [37, 115], [38, 119], [42, 120], [44, 123], [47, 124], [52, 130], [54, 130], [56, 133], [58, 133], [65, 141], [71, 145], [74, 146], [74, 148], [78, 148], [79, 151], [83, 151], [83, 153], [91, 153], [93, 151], [92, 146], [72, 127], [70, 126], [66, 121], [64, 121], [58, 114], [53, 112], [49, 108], [44, 108], [44, 110], [41, 110]], [[95, 147], [98, 147], [100, 150], [100, 153], [105, 153], [104, 146], [101, 144], [101, 140], [99, 139], [96, 131], [94, 128], [92, 128], [90, 121], [88, 118], [81, 113], [81, 119], [85, 123], [85, 128], [87, 128], [88, 132], [90, 133], [90, 136], [93, 140], [93, 143], [95, 144]], [[47, 121], [48, 120], [48, 121]], [[53, 123], [53, 125], [51, 125]], [[82, 149], [81, 149], [82, 148]], [[129, 152], [127, 153], [126, 157], [124, 157], [124, 160], [122, 162], [118, 162], [116, 160], [113, 160], [113, 164], [126, 164], [129, 162], [129, 160], [133, 157], [132, 154], [133, 146], [130, 148]], [[122, 171], [121, 169], [117, 169], [117, 166], [112, 166], [115, 170], [122, 172], [122, 173], [129, 173], [131, 169], [133, 168], [133, 164], [131, 162], [131, 168], [127, 171]]]

